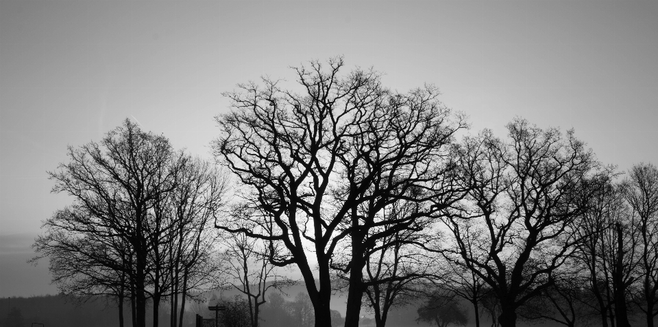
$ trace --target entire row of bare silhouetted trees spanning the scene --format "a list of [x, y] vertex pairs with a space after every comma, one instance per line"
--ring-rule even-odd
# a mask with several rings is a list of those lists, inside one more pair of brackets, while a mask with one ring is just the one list
[[[219, 304], [223, 327], [655, 326], [656, 166], [620, 172], [573, 130], [520, 117], [467, 133], [437, 87], [344, 66], [224, 93], [223, 170], [130, 120], [69, 148], [49, 176], [74, 201], [34, 260], [67, 296], [108, 300], [75, 319], [186, 327]], [[238, 295], [202, 297], [215, 289]], [[74, 319], [12, 305], [7, 322]]]

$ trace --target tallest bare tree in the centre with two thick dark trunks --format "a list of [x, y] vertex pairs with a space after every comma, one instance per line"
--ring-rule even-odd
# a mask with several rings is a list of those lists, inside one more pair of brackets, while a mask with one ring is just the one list
[[352, 245], [345, 325], [356, 326], [365, 237], [385, 224], [380, 211], [401, 198], [432, 203], [429, 212], [386, 222], [391, 228], [371, 241], [415, 228], [417, 218], [454, 201], [448, 145], [465, 127], [436, 101], [435, 88], [393, 94], [373, 70], [339, 77], [342, 67], [337, 59], [326, 70], [319, 62], [297, 68], [302, 94], [269, 79], [264, 88], [241, 85], [242, 92], [226, 94], [234, 110], [217, 118], [216, 154], [239, 177], [245, 199], [265, 213], [252, 221], [256, 230], [232, 222], [217, 227], [282, 242], [287, 252], [271, 253], [271, 262], [299, 267], [318, 327], [331, 321], [330, 263], [340, 241], [349, 236]]

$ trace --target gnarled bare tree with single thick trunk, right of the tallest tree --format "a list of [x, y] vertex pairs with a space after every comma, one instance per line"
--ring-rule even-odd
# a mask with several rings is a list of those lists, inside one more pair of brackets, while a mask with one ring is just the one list
[[[507, 129], [509, 142], [490, 132], [465, 142], [461, 167], [470, 192], [446, 226], [465, 266], [496, 293], [501, 326], [512, 327], [517, 309], [555, 283], [553, 272], [581, 241], [574, 228], [589, 209], [597, 163], [573, 131], [521, 119]], [[485, 231], [474, 249], [484, 260], [470, 254], [465, 220]]]

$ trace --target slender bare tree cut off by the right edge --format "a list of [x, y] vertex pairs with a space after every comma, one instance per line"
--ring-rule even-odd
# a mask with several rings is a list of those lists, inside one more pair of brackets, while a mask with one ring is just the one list
[[[646, 326], [653, 327], [658, 315], [658, 168], [637, 164], [629, 171], [624, 195], [635, 219], [642, 280], [642, 300], [638, 307], [646, 316]], [[644, 305], [642, 305], [644, 304]]]

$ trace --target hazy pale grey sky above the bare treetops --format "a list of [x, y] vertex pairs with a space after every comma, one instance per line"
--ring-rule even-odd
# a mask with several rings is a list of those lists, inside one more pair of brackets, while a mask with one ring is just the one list
[[0, 296], [53, 293], [27, 265], [71, 202], [47, 170], [135, 119], [210, 157], [221, 92], [343, 55], [397, 90], [435, 83], [472, 133], [514, 116], [576, 129], [605, 164], [658, 164], [658, 1], [0, 0]]

